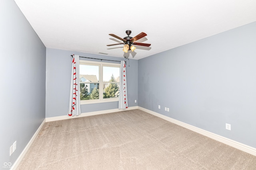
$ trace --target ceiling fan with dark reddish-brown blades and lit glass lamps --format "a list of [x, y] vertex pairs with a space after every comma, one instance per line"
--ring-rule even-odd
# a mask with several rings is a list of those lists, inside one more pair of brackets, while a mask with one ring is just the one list
[[149, 47], [151, 45], [151, 44], [146, 44], [146, 43], [137, 43], [137, 42], [135, 42], [138, 39], [141, 39], [141, 38], [145, 37], [147, 35], [146, 33], [142, 32], [142, 33], [136, 35], [135, 37], [130, 37], [130, 34], [132, 33], [132, 31], [131, 30], [127, 30], [125, 32], [127, 34], [127, 37], [124, 37], [124, 38], [118, 37], [117, 35], [114, 35], [114, 34], [109, 34], [112, 37], [115, 37], [117, 39], [122, 40], [123, 43], [110, 44], [110, 45], [107, 45], [107, 46], [125, 44], [123, 51], [125, 53], [128, 53], [129, 50], [132, 50], [132, 52], [133, 52], [136, 49], [136, 47], [134, 47], [133, 45], [140, 45], [140, 46], [145, 46], [145, 47]]

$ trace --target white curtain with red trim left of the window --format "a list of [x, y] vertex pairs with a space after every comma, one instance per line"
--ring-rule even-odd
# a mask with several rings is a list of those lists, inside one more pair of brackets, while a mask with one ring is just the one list
[[81, 114], [80, 108], [80, 77], [79, 77], [79, 55], [72, 57], [72, 74], [70, 83], [69, 116]]

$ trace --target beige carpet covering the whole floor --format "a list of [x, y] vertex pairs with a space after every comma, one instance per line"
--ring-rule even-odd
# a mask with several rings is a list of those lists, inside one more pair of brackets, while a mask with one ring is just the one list
[[256, 156], [139, 109], [44, 124], [18, 170], [255, 170]]

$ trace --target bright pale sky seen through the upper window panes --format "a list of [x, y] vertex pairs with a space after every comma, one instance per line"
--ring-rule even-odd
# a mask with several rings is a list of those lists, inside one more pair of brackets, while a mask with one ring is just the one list
[[[80, 74], [96, 75], [97, 79], [99, 80], [99, 67], [80, 64]], [[103, 81], [110, 80], [112, 74], [115, 78], [119, 77], [120, 68], [103, 66]]]

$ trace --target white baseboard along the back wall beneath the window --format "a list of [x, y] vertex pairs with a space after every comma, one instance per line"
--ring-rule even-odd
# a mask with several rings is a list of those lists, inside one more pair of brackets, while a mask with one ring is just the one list
[[132, 110], [132, 109], [138, 109], [138, 106], [128, 107], [126, 109], [110, 109], [110, 110], [102, 110], [102, 111], [92, 111], [92, 112], [88, 112], [88, 113], [81, 113], [79, 116], [64, 115], [64, 116], [56, 116], [56, 117], [46, 117], [45, 119], [46, 119], [46, 122], [49, 122], [49, 121], [73, 119], [73, 118], [92, 116], [92, 115], [101, 115], [101, 114], [105, 114], [105, 113], [113, 113], [113, 112]]

